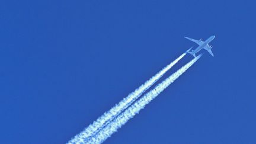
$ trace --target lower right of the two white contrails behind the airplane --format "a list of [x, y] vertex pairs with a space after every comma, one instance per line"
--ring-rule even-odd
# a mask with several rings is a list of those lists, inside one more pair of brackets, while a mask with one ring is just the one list
[[87, 143], [102, 143], [108, 137], [110, 137], [114, 132], [117, 131], [121, 126], [123, 126], [129, 119], [132, 119], [135, 114], [139, 113], [146, 104], [151, 102], [155, 97], [157, 97], [165, 88], [167, 88], [172, 82], [175, 81], [180, 75], [182, 75], [190, 66], [192, 66], [202, 55], [197, 56], [182, 68], [178, 69], [177, 72], [173, 73], [163, 82], [158, 84], [154, 89], [146, 93], [140, 100], [137, 100], [133, 105], [127, 108], [123, 113], [117, 116], [111, 123], [101, 129], [96, 135], [94, 135]]

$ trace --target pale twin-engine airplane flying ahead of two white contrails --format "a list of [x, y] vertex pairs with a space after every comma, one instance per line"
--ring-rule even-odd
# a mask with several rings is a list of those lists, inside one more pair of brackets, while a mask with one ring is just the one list
[[190, 53], [190, 55], [196, 57], [197, 52], [199, 52], [201, 49], [205, 49], [210, 53], [210, 55], [214, 56], [213, 53], [212, 53], [212, 50], [211, 50], [213, 46], [209, 46], [209, 43], [210, 43], [210, 41], [215, 39], [215, 36], [210, 36], [206, 41], [203, 41], [202, 39], [194, 40], [194, 39], [191, 39], [189, 37], [185, 37], [185, 39], [194, 41], [195, 43], [197, 43], [199, 45], [199, 47], [197, 47], [196, 49], [191, 50], [191, 51], [190, 50], [187, 51], [187, 53]]

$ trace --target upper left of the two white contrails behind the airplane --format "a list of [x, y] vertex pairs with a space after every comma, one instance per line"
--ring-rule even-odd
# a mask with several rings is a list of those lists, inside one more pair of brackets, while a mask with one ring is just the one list
[[130, 93], [126, 98], [121, 100], [119, 104], [116, 104], [114, 107], [112, 107], [110, 110], [105, 112], [102, 116], [100, 116], [97, 120], [95, 120], [92, 124], [90, 124], [87, 128], [85, 128], [85, 130], [83, 130], [81, 133], [79, 133], [78, 135], [73, 137], [71, 140], [69, 140], [68, 143], [85, 143], [87, 140], [89, 140], [90, 136], [94, 135], [96, 132], [98, 132], [98, 130], [100, 130], [107, 123], [113, 120], [114, 117], [116, 117], [123, 110], [129, 107], [130, 104], [132, 104], [135, 100], [137, 100], [137, 98], [139, 98], [140, 95], [142, 95], [143, 92], [145, 92], [149, 87], [155, 84], [155, 82], [158, 81], [158, 79], [161, 78], [161, 76], [164, 75], [164, 73], [166, 73], [169, 69], [171, 69], [172, 66], [174, 66], [186, 54], [187, 52], [183, 53], [173, 62], [169, 63], [169, 65], [165, 66], [165, 68], [163, 68], [161, 71], [156, 73], [155, 76], [152, 76], [151, 79], [146, 81], [143, 85], [140, 85], [140, 87], [137, 88], [134, 92]]

